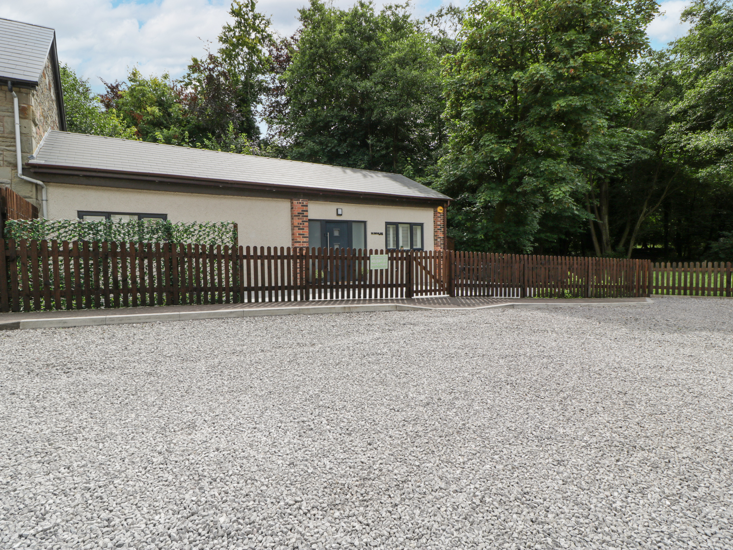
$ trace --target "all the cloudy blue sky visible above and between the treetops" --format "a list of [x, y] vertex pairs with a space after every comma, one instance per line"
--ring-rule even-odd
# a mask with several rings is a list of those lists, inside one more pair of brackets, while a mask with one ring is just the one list
[[[298, 26], [298, 8], [307, 0], [259, 0], [273, 29], [290, 35]], [[454, 1], [465, 4], [466, 0]], [[145, 75], [185, 73], [191, 56], [202, 56], [207, 44], [216, 51], [216, 37], [229, 21], [230, 0], [0, 0], [0, 17], [56, 29], [59, 60], [89, 78], [103, 92], [100, 78], [125, 80], [137, 65]], [[391, 3], [376, 0], [375, 4]], [[413, 1], [416, 15], [436, 10], [445, 0]], [[334, 0], [347, 7], [353, 0]], [[649, 25], [655, 48], [684, 34], [679, 13], [688, 1], [666, 0]]]

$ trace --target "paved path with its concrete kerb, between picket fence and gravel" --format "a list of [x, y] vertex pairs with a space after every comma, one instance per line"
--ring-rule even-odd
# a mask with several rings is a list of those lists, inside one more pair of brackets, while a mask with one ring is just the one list
[[0, 313], [0, 330], [81, 327], [193, 319], [224, 319], [358, 311], [408, 311], [422, 309], [543, 308], [568, 305], [645, 305], [648, 298], [553, 300], [535, 298], [419, 297], [380, 300], [311, 300], [308, 302], [257, 302], [244, 304], [168, 305], [139, 308]]

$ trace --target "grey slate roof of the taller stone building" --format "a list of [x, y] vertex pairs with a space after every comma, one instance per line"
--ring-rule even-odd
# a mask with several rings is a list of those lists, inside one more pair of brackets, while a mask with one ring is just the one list
[[54, 29], [0, 19], [0, 80], [37, 84], [54, 42]]

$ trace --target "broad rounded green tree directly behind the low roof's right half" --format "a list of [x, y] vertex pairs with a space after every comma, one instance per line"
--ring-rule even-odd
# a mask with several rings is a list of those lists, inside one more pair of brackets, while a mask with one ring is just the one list
[[375, 13], [365, 1], [340, 10], [312, 0], [300, 21], [273, 55], [280, 75], [266, 108], [290, 157], [410, 175], [435, 163], [450, 37], [431, 34], [407, 6]]

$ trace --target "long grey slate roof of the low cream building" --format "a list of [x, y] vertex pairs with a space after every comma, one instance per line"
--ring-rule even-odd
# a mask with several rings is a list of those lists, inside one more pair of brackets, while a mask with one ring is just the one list
[[35, 152], [35, 158], [29, 160], [28, 164], [43, 168], [43, 171], [53, 171], [49, 169], [51, 167], [81, 168], [84, 171], [130, 174], [130, 177], [144, 175], [147, 179], [150, 179], [150, 175], [193, 179], [212, 185], [229, 182], [270, 188], [295, 187], [303, 191], [449, 200], [442, 193], [402, 174], [56, 130], [45, 135]]

